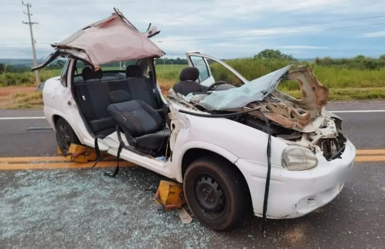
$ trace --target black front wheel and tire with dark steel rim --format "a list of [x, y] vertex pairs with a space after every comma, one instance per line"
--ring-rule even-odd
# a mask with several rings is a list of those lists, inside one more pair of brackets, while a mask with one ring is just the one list
[[202, 157], [192, 162], [184, 176], [183, 190], [194, 216], [214, 230], [228, 230], [249, 208], [247, 184], [229, 161]]

